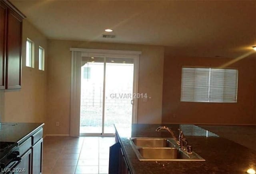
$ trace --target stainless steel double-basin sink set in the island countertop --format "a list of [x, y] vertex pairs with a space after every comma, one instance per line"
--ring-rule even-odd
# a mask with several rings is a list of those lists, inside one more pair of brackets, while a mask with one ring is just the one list
[[136, 156], [142, 161], [205, 161], [195, 152], [188, 154], [179, 149], [172, 138], [130, 138], [130, 141]]

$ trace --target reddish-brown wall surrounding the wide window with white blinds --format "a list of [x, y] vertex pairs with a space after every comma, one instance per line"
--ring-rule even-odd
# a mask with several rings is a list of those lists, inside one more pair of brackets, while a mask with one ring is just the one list
[[256, 124], [255, 56], [244, 58], [229, 66], [239, 70], [237, 103], [180, 102], [182, 66], [218, 67], [232, 60], [234, 59], [166, 55], [162, 121], [165, 123]]

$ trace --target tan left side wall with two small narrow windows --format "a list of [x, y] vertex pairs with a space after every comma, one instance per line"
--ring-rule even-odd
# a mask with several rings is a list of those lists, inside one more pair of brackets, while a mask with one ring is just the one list
[[[46, 102], [46, 72], [38, 70], [38, 46], [45, 49], [47, 39], [26, 20], [22, 33], [22, 88], [20, 90], [1, 90], [2, 122], [44, 122]], [[26, 38], [35, 44], [35, 66], [26, 67]], [[46, 59], [47, 60], [47, 59]]]

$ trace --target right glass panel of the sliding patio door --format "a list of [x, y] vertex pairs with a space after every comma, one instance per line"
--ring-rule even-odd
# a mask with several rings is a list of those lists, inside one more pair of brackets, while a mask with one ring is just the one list
[[106, 58], [104, 132], [132, 123], [134, 59]]

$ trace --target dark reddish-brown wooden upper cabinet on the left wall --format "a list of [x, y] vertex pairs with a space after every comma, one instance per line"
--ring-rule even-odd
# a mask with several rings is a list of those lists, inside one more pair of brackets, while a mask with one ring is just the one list
[[0, 1], [0, 88], [21, 88], [22, 19], [25, 16], [9, 1]]

